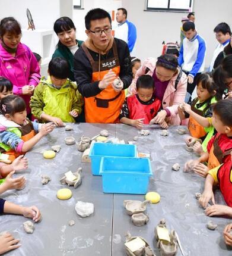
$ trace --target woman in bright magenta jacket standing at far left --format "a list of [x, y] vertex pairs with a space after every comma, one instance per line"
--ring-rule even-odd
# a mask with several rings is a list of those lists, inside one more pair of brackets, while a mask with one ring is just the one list
[[35, 86], [40, 82], [40, 68], [31, 50], [20, 43], [21, 36], [21, 27], [17, 20], [13, 17], [1, 20], [0, 76], [11, 81], [13, 93], [24, 99], [30, 117], [29, 101]]

